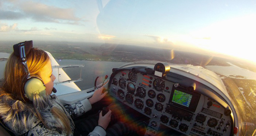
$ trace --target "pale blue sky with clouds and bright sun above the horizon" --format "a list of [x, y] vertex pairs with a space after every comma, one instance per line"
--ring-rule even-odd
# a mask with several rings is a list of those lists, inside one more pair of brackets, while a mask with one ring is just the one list
[[256, 0], [1, 0], [0, 41], [209, 50], [256, 62]]

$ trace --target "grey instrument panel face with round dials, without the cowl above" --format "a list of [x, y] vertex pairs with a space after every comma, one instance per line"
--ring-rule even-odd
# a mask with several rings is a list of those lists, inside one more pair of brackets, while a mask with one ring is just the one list
[[233, 120], [224, 114], [225, 108], [178, 82], [132, 68], [113, 73], [110, 80], [111, 96], [151, 118], [151, 136], [161, 125], [190, 136], [232, 135]]

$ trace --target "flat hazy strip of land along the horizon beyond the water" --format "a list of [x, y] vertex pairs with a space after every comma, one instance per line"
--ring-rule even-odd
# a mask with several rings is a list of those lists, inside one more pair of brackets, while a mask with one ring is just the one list
[[[0, 52], [13, 52], [13, 45], [17, 42], [1, 42]], [[77, 59], [87, 61], [164, 61], [175, 64], [189, 64], [194, 66], [230, 66], [230, 62], [241, 68], [256, 72], [256, 65], [244, 60], [216, 55], [203, 55], [182, 52], [175, 49], [159, 49], [135, 45], [113, 45], [89, 42], [34, 42], [34, 47], [50, 52], [55, 59]]]

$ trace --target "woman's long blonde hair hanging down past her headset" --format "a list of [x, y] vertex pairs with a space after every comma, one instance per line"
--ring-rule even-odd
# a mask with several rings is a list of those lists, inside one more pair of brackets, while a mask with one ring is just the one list
[[[40, 71], [50, 60], [50, 57], [43, 50], [32, 48], [30, 52], [26, 54], [26, 59], [27, 59], [28, 69], [31, 75], [39, 76]], [[26, 72], [25, 72], [24, 66], [21, 63], [21, 59], [15, 56], [14, 53], [12, 53], [9, 56], [9, 59], [5, 66], [4, 79], [1, 84], [1, 89], [3, 90], [3, 92], [0, 92], [0, 94], [6, 93], [7, 95], [11, 96], [15, 100], [28, 103], [29, 100], [24, 96], [24, 90], [23, 90], [23, 84], [25, 81], [26, 81]], [[66, 113], [63, 110], [52, 106], [52, 103], [50, 103], [49, 101], [44, 101], [45, 98], [42, 99], [41, 97], [46, 97], [47, 99], [48, 96], [34, 95], [34, 98], [33, 98], [34, 109], [32, 111], [34, 111], [38, 119], [41, 122], [43, 122], [45, 127], [47, 127], [48, 129], [51, 129], [42, 118], [41, 112], [38, 110], [42, 108], [46, 108], [46, 109], [50, 108], [50, 112], [52, 113], [52, 115], [54, 115], [57, 118], [57, 120], [60, 121], [60, 123], [64, 124], [63, 126], [64, 128], [59, 128], [59, 129], [64, 130], [67, 134], [71, 134], [72, 130], [70, 127], [70, 121]], [[21, 108], [20, 110], [23, 109], [22, 107], [20, 108]], [[11, 118], [9, 118], [9, 120], [11, 120]], [[8, 120], [5, 120], [5, 121], [8, 121]], [[14, 123], [16, 121], [17, 120], [14, 120], [13, 118], [12, 122]]]

